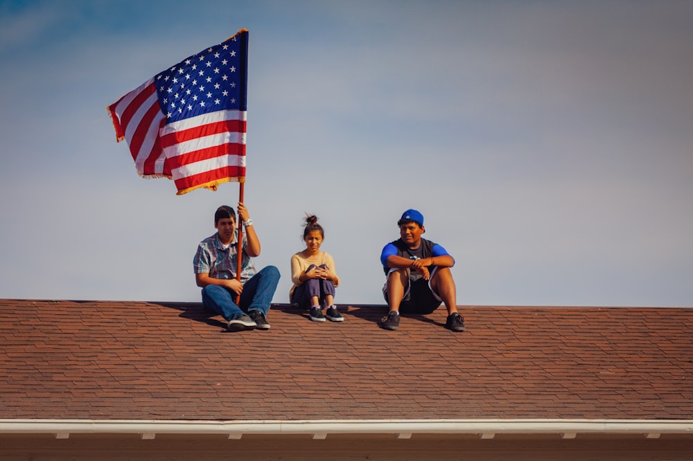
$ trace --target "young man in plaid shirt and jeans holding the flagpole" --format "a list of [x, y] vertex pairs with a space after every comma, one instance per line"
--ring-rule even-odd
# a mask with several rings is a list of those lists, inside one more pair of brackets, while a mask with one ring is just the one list
[[[202, 288], [202, 305], [220, 314], [231, 332], [244, 329], [270, 329], [267, 311], [279, 283], [279, 269], [267, 266], [256, 271], [253, 257], [260, 255], [260, 240], [253, 220], [242, 203], [238, 219], [243, 224], [240, 280], [238, 271], [238, 229], [236, 213], [220, 206], [214, 213], [217, 232], [202, 240], [193, 259], [195, 282]], [[238, 304], [236, 304], [236, 298]]]

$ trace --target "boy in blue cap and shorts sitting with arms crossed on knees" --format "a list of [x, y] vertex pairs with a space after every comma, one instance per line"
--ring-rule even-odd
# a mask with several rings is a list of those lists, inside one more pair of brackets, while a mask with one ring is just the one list
[[446, 327], [464, 332], [464, 317], [457, 312], [457, 292], [450, 267], [455, 260], [445, 248], [421, 238], [426, 232], [423, 215], [406, 210], [397, 222], [400, 238], [385, 245], [380, 253], [387, 281], [383, 295], [389, 312], [380, 326], [399, 327], [399, 312], [430, 314], [441, 302], [448, 309]]

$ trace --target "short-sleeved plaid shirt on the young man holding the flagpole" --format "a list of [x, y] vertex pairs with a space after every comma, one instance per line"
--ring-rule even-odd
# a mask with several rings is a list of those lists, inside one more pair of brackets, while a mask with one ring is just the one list
[[[240, 267], [240, 282], [245, 283], [257, 272], [253, 258], [246, 253], [248, 245], [243, 234], [243, 262]], [[236, 254], [238, 253], [238, 229], [229, 248], [224, 248], [219, 233], [202, 240], [193, 258], [195, 273], [209, 273], [211, 278], [231, 280], [236, 278]]]

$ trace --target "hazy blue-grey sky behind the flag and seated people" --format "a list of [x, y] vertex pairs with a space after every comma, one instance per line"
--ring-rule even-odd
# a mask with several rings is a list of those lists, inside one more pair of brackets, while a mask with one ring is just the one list
[[107, 105], [249, 29], [245, 203], [382, 304], [407, 208], [460, 305], [693, 306], [693, 2], [0, 1], [0, 298], [197, 301], [238, 185], [137, 176]]

